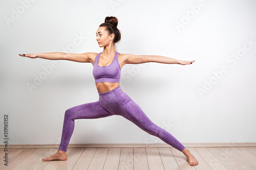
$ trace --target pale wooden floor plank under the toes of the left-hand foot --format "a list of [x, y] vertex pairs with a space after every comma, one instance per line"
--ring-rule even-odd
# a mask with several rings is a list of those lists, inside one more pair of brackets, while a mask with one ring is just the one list
[[49, 156], [55, 154], [58, 149], [48, 149], [47, 152], [40, 156], [37, 161], [35, 161], [27, 170], [35, 170], [35, 169], [42, 169], [44, 168], [49, 162], [42, 161], [43, 158], [48, 158]]

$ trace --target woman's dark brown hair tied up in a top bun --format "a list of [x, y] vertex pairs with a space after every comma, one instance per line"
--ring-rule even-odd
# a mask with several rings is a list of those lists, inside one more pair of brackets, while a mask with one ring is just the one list
[[106, 31], [109, 34], [115, 34], [115, 38], [113, 40], [114, 44], [121, 40], [121, 32], [117, 29], [118, 19], [114, 16], [107, 16], [105, 17], [105, 22], [101, 23], [99, 27], [105, 27]]

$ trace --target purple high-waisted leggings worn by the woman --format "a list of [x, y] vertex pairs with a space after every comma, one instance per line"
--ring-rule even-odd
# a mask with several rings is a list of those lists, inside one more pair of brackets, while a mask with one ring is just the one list
[[75, 119], [101, 118], [112, 115], [123, 116], [145, 132], [160, 138], [179, 151], [183, 151], [185, 148], [172, 134], [154, 124], [130, 96], [118, 86], [111, 91], [99, 93], [98, 102], [75, 106], [65, 112], [59, 150], [67, 151], [74, 131]]

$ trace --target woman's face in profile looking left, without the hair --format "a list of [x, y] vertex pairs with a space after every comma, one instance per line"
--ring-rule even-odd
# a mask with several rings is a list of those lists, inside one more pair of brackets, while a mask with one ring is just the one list
[[96, 36], [96, 41], [98, 42], [99, 47], [108, 46], [114, 39], [114, 34], [109, 35], [108, 31], [105, 30], [105, 27], [99, 27]]

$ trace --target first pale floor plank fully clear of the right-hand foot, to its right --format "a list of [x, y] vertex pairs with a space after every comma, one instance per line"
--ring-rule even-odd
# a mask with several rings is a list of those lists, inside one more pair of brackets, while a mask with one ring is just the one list
[[195, 148], [212, 169], [226, 170], [227, 168], [207, 148]]

